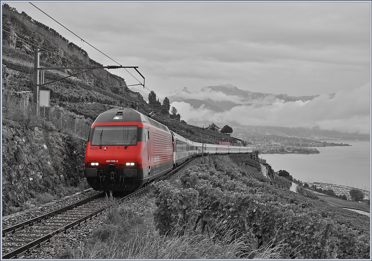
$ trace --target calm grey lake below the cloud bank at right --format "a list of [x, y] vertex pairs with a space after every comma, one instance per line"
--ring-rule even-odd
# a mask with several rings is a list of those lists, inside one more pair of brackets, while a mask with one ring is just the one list
[[370, 141], [327, 141], [352, 146], [316, 147], [320, 154], [260, 154], [274, 171], [286, 170], [302, 182], [371, 188]]

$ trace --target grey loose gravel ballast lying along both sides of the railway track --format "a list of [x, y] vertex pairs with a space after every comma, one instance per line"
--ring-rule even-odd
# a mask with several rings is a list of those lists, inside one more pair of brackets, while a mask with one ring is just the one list
[[[199, 162], [200, 162], [199, 160], [193, 160], [188, 165], [189, 166], [195, 165], [195, 164], [198, 164]], [[168, 177], [167, 180], [169, 181], [176, 180], [179, 177], [179, 175], [183, 173], [184, 170], [185, 168], [183, 168], [183, 170], [180, 170], [176, 174], [172, 175], [171, 177]], [[134, 214], [134, 218], [138, 216], [144, 216], [144, 213], [152, 212], [156, 206], [154, 203], [155, 199], [153, 198], [152, 193], [150, 191], [151, 189], [145, 193], [141, 193], [139, 195], [131, 197], [130, 199], [125, 200], [119, 205], [119, 207], [126, 206], [130, 208]], [[94, 192], [97, 193], [96, 191]], [[90, 193], [91, 191], [88, 192], [87, 194], [84, 193], [85, 195], [84, 197], [87, 197], [88, 194], [89, 196], [91, 196]], [[76, 198], [73, 201], [76, 201]], [[67, 203], [65, 204], [67, 205]], [[44, 208], [42, 208], [42, 210], [44, 210]], [[49, 211], [45, 211], [45, 213]], [[37, 215], [40, 215], [40, 214], [41, 213]], [[29, 216], [27, 216], [27, 218], [24, 215], [22, 215], [22, 218], [25, 220], [31, 218], [30, 214], [28, 214]], [[106, 220], [106, 212], [103, 212], [101, 215], [98, 215], [96, 218], [93, 218], [87, 221], [86, 223], [83, 223], [80, 226], [74, 229], [71, 229], [70, 231], [67, 231], [65, 233], [62, 233], [52, 238], [50, 242], [45, 243], [39, 248], [32, 249], [30, 252], [23, 254], [19, 258], [21, 259], [57, 259], [58, 257], [61, 257], [60, 256], [61, 253], [65, 251], [70, 251], [71, 249], [79, 249], [83, 247], [85, 245], [86, 240], [92, 236], [93, 231], [95, 231], [97, 228], [102, 226], [105, 223], [105, 220]], [[13, 221], [13, 222], [17, 223], [16, 221]], [[150, 219], [145, 220], [145, 222], [147, 222], [148, 225], [151, 225], [152, 217], [151, 217], [151, 220]], [[58, 253], [59, 255], [57, 255]]]

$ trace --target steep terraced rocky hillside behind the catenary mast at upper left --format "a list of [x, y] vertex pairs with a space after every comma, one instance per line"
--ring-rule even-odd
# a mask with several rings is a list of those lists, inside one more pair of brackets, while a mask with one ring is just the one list
[[[35, 48], [49, 50], [41, 52], [40, 55], [40, 65], [44, 67], [102, 66], [90, 59], [87, 52], [79, 46], [69, 42], [54, 29], [33, 20], [24, 12], [20, 14], [3, 5], [2, 18], [4, 23], [2, 63], [7, 68], [7, 71], [3, 70], [3, 89], [15, 92], [32, 91]], [[45, 71], [45, 82], [79, 71], [81, 70]], [[51, 91], [52, 106], [67, 107], [77, 114], [89, 115], [90, 118], [97, 117], [99, 114], [94, 109], [95, 106], [90, 104], [99, 103], [108, 106], [128, 106], [131, 102], [145, 104], [141, 94], [126, 87], [123, 78], [105, 69], [94, 69], [92, 72], [56, 81], [41, 86], [40, 89]]]

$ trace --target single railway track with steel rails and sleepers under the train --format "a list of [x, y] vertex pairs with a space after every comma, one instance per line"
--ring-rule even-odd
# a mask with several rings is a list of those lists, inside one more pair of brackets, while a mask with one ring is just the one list
[[[169, 178], [186, 165], [180, 165], [167, 175], [164, 175], [161, 180]], [[106, 193], [102, 192], [47, 214], [5, 228], [1, 232], [2, 259], [17, 258], [34, 248], [42, 247], [43, 244], [49, 242], [54, 236], [74, 229], [100, 215], [114, 202], [115, 204], [121, 203], [136, 194], [143, 193], [149, 187], [139, 189], [125, 197], [115, 197], [109, 201]]]

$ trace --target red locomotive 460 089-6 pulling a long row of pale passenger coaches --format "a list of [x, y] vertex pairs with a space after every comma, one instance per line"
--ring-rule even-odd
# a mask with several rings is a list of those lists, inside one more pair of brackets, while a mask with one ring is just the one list
[[202, 153], [251, 152], [244, 146], [193, 142], [134, 109], [114, 108], [90, 128], [84, 175], [94, 190], [135, 191]]

